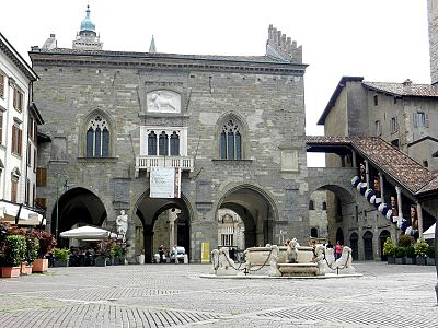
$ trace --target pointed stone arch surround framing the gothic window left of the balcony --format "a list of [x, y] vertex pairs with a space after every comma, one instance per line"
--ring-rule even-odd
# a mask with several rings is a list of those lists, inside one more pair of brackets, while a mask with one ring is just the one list
[[111, 115], [108, 110], [102, 109], [102, 108], [96, 108], [91, 110], [84, 119], [80, 122], [80, 128], [79, 128], [79, 156], [81, 157], [87, 157], [87, 131], [89, 129], [89, 124], [90, 121], [96, 117], [101, 116], [104, 118], [107, 122], [107, 126], [110, 128], [110, 154], [107, 157], [115, 157], [115, 139], [116, 139], [116, 121]]

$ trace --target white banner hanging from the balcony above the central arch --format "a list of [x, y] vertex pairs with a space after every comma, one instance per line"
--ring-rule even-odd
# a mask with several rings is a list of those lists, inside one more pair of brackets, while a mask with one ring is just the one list
[[150, 198], [181, 198], [181, 168], [152, 167]]

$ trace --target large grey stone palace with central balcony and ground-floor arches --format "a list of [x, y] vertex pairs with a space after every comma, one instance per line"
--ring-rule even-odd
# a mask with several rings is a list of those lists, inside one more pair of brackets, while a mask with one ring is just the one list
[[[307, 66], [301, 47], [268, 32], [264, 56], [110, 51], [101, 49], [88, 9], [81, 47], [58, 48], [51, 35], [33, 48], [35, 102], [50, 139], [38, 160], [48, 229], [114, 230], [124, 209], [129, 257], [142, 239], [150, 258], [154, 223], [176, 209], [175, 243], [192, 261], [201, 243], [219, 244], [220, 209], [243, 221], [245, 247], [277, 241], [280, 231], [308, 237]], [[152, 177], [172, 169], [181, 178], [175, 197], [151, 196]]]

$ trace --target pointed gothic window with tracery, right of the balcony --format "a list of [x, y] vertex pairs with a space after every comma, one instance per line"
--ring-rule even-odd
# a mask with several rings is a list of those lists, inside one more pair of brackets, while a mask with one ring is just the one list
[[233, 120], [229, 120], [220, 133], [220, 157], [223, 160], [242, 159], [242, 136]]

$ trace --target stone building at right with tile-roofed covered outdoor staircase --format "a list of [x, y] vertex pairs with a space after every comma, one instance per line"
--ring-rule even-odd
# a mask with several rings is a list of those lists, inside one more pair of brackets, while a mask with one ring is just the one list
[[318, 122], [325, 137], [308, 139], [308, 148], [327, 153], [327, 167], [353, 178], [355, 188], [328, 192], [327, 220], [330, 238], [359, 259], [382, 259], [388, 236], [418, 238], [436, 221], [437, 4], [428, 1], [433, 85], [343, 77]]

